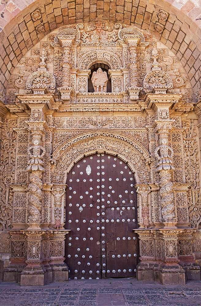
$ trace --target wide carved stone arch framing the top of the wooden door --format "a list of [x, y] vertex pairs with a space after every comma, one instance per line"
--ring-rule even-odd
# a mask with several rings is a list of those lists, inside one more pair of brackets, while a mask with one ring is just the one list
[[71, 138], [55, 150], [52, 156], [52, 160], [56, 160], [52, 172], [52, 183], [65, 184], [67, 174], [74, 163], [86, 155], [97, 152], [116, 155], [127, 162], [135, 175], [136, 183], [150, 182], [150, 168], [148, 166], [150, 155], [145, 147], [123, 133], [96, 130]]

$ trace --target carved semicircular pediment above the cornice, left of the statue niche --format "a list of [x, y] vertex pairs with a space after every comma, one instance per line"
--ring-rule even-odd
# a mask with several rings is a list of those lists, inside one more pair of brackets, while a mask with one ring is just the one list
[[38, 70], [30, 74], [26, 82], [26, 88], [34, 94], [55, 92], [55, 77], [49, 71]]

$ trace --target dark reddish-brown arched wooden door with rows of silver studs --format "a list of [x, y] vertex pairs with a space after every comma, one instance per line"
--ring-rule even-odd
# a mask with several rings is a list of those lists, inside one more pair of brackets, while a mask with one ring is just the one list
[[66, 263], [69, 277], [136, 275], [137, 197], [125, 162], [108, 154], [82, 158], [66, 184]]

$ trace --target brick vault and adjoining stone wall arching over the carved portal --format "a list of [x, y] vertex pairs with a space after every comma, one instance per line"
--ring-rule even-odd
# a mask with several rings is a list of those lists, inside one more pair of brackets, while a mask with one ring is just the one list
[[2, 1], [0, 16], [0, 89], [18, 61], [45, 35], [62, 25], [104, 20], [148, 30], [179, 58], [194, 93], [201, 78], [200, 0], [179, 3], [139, 0]]

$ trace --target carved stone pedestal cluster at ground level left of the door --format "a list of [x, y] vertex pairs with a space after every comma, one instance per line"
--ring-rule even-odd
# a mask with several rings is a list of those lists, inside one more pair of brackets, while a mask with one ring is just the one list
[[66, 233], [69, 230], [11, 230], [12, 257], [10, 265], [4, 269], [4, 282], [30, 286], [67, 281]]

